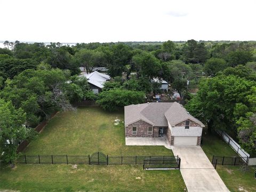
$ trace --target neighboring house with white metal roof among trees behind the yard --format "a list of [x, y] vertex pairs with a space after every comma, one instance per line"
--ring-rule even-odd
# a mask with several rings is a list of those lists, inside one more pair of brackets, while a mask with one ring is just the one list
[[98, 71], [94, 71], [90, 74], [79, 75], [79, 77], [87, 78], [87, 82], [91, 86], [91, 89], [94, 94], [98, 94], [104, 87], [104, 83], [110, 80], [109, 75], [101, 74]]

